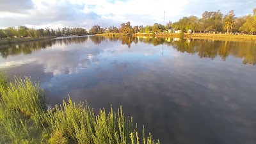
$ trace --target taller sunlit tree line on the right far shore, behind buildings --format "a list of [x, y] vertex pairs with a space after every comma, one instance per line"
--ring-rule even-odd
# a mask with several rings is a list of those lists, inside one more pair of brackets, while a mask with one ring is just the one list
[[166, 24], [153, 24], [152, 26], [131, 26], [131, 22], [120, 24], [118, 28], [110, 26], [109, 28], [100, 28], [95, 25], [90, 29], [90, 33], [162, 33], [167, 29], [176, 29], [183, 32], [188, 32], [189, 29], [193, 33], [228, 33], [228, 34], [249, 34], [256, 33], [256, 8], [253, 9], [253, 15], [246, 15], [243, 17], [236, 17], [234, 10], [228, 12], [226, 15], [218, 10], [217, 12], [202, 13], [202, 17], [191, 15], [189, 17], [182, 17], [177, 22], [168, 21]]

